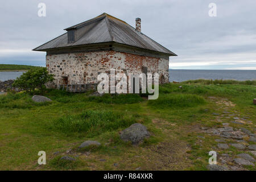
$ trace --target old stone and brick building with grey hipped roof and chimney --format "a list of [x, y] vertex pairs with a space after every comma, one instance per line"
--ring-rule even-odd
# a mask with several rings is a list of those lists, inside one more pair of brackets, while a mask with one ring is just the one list
[[95, 84], [100, 73], [114, 68], [119, 73], [159, 73], [160, 83], [169, 81], [167, 48], [141, 32], [141, 19], [136, 28], [109, 14], [66, 28], [65, 34], [39, 46], [46, 51], [46, 67], [55, 75], [52, 86]]

